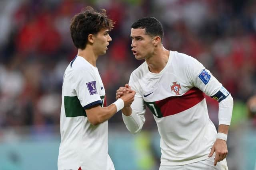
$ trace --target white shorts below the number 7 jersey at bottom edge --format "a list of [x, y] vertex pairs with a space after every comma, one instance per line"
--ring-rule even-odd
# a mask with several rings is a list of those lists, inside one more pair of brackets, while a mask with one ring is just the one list
[[192, 164], [180, 165], [180, 166], [164, 166], [161, 165], [159, 170], [228, 170], [228, 165], [226, 159], [217, 162], [214, 166], [214, 156], [195, 162]]

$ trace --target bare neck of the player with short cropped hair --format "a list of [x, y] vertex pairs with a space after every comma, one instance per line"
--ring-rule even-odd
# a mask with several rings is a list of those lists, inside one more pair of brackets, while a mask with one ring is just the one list
[[168, 62], [169, 55], [170, 51], [166, 50], [163, 45], [156, 49], [151, 57], [145, 59], [150, 72], [161, 72]]

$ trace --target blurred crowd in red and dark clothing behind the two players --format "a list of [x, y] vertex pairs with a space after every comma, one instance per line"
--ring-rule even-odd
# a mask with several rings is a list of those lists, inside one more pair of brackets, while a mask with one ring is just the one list
[[[63, 73], [77, 53], [70, 19], [88, 5], [106, 9], [116, 22], [107, 54], [99, 57], [97, 65], [108, 104], [143, 62], [130, 51], [130, 25], [145, 16], [163, 23], [167, 49], [191, 55], [211, 70], [238, 109], [256, 94], [256, 1], [1, 0], [1, 128], [59, 124]], [[218, 102], [207, 100], [217, 125]], [[246, 116], [241, 110], [244, 113], [234, 119]], [[150, 128], [152, 115], [146, 115]], [[110, 119], [110, 124], [119, 122], [121, 114]]]

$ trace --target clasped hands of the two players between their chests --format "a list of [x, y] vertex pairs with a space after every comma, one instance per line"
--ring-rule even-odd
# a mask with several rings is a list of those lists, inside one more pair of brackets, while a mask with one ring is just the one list
[[131, 89], [129, 84], [125, 84], [124, 87], [120, 87], [116, 90], [116, 100], [121, 98], [124, 101], [124, 107], [130, 107], [134, 101], [136, 92]]

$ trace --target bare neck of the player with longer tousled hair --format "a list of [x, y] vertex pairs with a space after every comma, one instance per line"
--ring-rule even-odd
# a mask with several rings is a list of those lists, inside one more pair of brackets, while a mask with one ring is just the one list
[[96, 60], [98, 59], [98, 56], [94, 54], [90, 45], [87, 44], [84, 50], [78, 49], [77, 55], [83, 57], [84, 59], [86, 59], [86, 61], [96, 67]]

